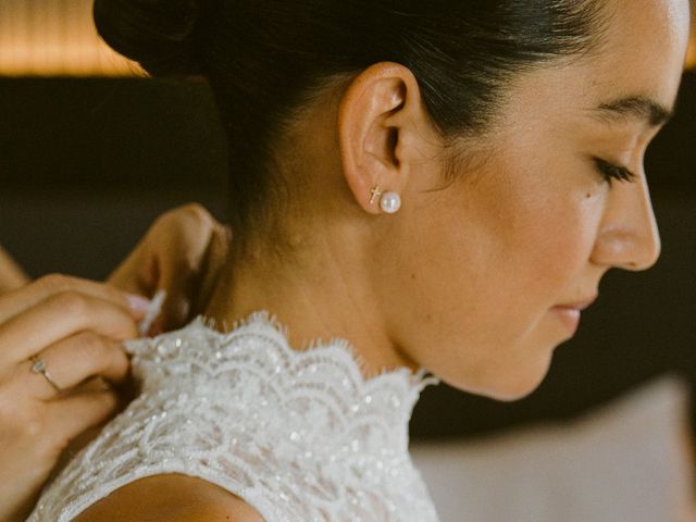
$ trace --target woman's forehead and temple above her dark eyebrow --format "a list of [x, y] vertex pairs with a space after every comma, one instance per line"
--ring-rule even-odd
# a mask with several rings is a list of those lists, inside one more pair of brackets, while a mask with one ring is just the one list
[[624, 98], [652, 100], [670, 110], [683, 73], [688, 3], [607, 0], [599, 46], [581, 59], [522, 76], [510, 91], [508, 115], [529, 130], [534, 122], [567, 121]]

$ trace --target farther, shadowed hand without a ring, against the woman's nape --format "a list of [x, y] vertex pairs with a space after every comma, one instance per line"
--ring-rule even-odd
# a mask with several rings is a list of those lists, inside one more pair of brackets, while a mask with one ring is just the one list
[[201, 206], [179, 207], [154, 222], [108, 282], [150, 298], [165, 289], [162, 312], [149, 333], [167, 332], [203, 311], [229, 244], [229, 229]]

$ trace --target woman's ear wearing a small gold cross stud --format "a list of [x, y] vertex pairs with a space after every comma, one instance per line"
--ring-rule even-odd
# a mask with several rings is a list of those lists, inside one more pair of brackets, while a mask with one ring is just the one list
[[[371, 189], [402, 194], [414, 163], [421, 126], [430, 126], [413, 73], [382, 62], [358, 75], [338, 111], [338, 139], [344, 175], [356, 200], [372, 214], [382, 213]], [[421, 138], [422, 139], [422, 138]]]

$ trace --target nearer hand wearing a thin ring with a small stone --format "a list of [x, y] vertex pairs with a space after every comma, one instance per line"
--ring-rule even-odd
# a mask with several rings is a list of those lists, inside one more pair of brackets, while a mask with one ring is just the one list
[[[117, 407], [121, 341], [147, 301], [107, 285], [51, 275], [0, 297], [0, 521], [24, 520], [62, 450]], [[32, 371], [34, 356], [50, 378]]]

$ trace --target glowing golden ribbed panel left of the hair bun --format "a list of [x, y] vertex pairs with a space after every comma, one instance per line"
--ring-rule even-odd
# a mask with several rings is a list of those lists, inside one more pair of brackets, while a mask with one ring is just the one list
[[140, 74], [97, 35], [94, 0], [0, 0], [0, 75]]

